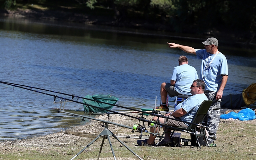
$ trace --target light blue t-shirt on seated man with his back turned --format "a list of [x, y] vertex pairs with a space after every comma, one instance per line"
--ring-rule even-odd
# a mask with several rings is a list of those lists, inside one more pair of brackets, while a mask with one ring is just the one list
[[188, 64], [176, 66], [171, 77], [171, 80], [176, 81], [174, 89], [182, 95], [191, 95], [190, 86], [196, 79], [198, 79], [196, 69]]

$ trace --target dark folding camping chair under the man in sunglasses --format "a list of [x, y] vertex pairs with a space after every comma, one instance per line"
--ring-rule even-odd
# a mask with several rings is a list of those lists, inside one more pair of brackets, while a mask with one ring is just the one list
[[[205, 128], [204, 127], [198, 127], [196, 124], [199, 124], [199, 123], [201, 124], [203, 122], [203, 119], [206, 116], [206, 114], [207, 114], [207, 112], [210, 108], [210, 105], [212, 105], [212, 101], [203, 101], [202, 104], [198, 107], [198, 110], [197, 110], [196, 114], [194, 115], [194, 117], [191, 121], [191, 123], [195, 123], [195, 124], [190, 124], [190, 126], [188, 126], [187, 128], [173, 127], [173, 128], [182, 129], [182, 130], [185, 130], [185, 131], [192, 132], [191, 134], [193, 134], [194, 137], [196, 137], [196, 142], [197, 142], [197, 144], [200, 148], [201, 148], [201, 145], [200, 145], [199, 140], [198, 140], [198, 137], [200, 137], [200, 136], [204, 136], [208, 146], [209, 146], [209, 144], [207, 142]], [[164, 133], [162, 133], [162, 135], [159, 139], [159, 142], [161, 141], [164, 134], [167, 133], [166, 129], [168, 129], [168, 128], [165, 128]], [[173, 130], [172, 132], [169, 132], [169, 133], [171, 133], [171, 137], [175, 132], [175, 129], [172, 129], [172, 130]], [[192, 142], [192, 139], [191, 139], [191, 142]]]

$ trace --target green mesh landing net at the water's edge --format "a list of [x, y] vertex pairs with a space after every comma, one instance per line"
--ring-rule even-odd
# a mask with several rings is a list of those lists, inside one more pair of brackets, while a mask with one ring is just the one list
[[[83, 103], [86, 104], [84, 105], [85, 112], [94, 112], [94, 113], [107, 113], [108, 111], [104, 109], [111, 110], [113, 108], [112, 105], [115, 105], [118, 100], [118, 98], [113, 97], [111, 95], [94, 95], [94, 96], [87, 95], [85, 96], [85, 98], [90, 99], [90, 100], [83, 99]], [[112, 105], [107, 105], [105, 103], [100, 103], [96, 101], [110, 103]], [[101, 109], [95, 108], [92, 106], [100, 107]]]

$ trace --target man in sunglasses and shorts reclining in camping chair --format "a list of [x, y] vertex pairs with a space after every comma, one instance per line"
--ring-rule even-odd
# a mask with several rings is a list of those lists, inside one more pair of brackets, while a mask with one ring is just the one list
[[[178, 104], [176, 107], [176, 111], [172, 112], [172, 114], [167, 113], [165, 116], [169, 116], [170, 118], [174, 119], [180, 119], [185, 122], [191, 122], [194, 115], [196, 114], [198, 107], [202, 104], [204, 100], [208, 100], [206, 95], [204, 94], [204, 82], [202, 80], [194, 80], [193, 84], [190, 87], [190, 92], [192, 94], [191, 97], [187, 98], [184, 102]], [[160, 117], [154, 117], [152, 121], [157, 122], [157, 119], [159, 119], [159, 122], [162, 124], [166, 124], [168, 126], [172, 127], [187, 127], [189, 124], [184, 122], [175, 121], [173, 119], [168, 119], [166, 122], [166, 118], [160, 118]], [[165, 130], [165, 128], [163, 127]], [[154, 127], [150, 129], [150, 132], [153, 133], [155, 130]], [[159, 132], [159, 128], [157, 128]], [[167, 129], [168, 132], [168, 129]], [[159, 142], [158, 146], [163, 146], [171, 143], [170, 139], [171, 133], [165, 133], [164, 139]], [[155, 146], [155, 136], [153, 134], [150, 134], [149, 139], [145, 140], [137, 140], [137, 144], [139, 146]]]

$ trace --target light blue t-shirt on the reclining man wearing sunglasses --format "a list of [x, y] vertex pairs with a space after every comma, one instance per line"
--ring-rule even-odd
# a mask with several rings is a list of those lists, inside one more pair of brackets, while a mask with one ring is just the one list
[[[187, 113], [179, 117], [182, 121], [191, 122], [194, 115], [196, 114], [198, 107], [202, 104], [204, 100], [208, 100], [205, 94], [196, 94], [191, 97], [188, 97], [184, 102], [179, 103], [175, 110], [183, 108]], [[187, 126], [190, 124], [185, 123]]]

